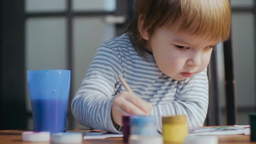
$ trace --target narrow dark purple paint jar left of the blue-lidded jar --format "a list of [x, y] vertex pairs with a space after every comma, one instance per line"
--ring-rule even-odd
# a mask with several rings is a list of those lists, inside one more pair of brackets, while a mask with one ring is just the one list
[[131, 115], [123, 115], [123, 117], [122, 117], [123, 142], [128, 142], [128, 138], [130, 136], [130, 117], [131, 117]]

